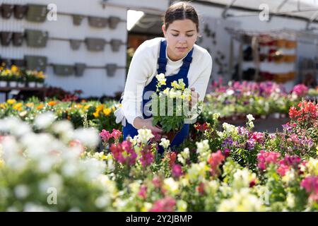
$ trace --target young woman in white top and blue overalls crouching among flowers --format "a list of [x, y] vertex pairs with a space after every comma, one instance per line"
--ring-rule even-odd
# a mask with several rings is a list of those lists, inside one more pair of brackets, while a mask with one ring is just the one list
[[[138, 129], [151, 129], [153, 118], [143, 112], [143, 105], [149, 101], [148, 91], [156, 90], [160, 73], [167, 79], [165, 88], [171, 88], [172, 81], [183, 78], [186, 87], [191, 88], [192, 98], [204, 100], [211, 76], [212, 58], [206, 49], [194, 44], [199, 34], [199, 17], [191, 4], [179, 2], [165, 12], [163, 37], [143, 42], [131, 59], [122, 97], [122, 107], [115, 113], [117, 123], [122, 121], [124, 139], [134, 138]], [[189, 135], [189, 124], [184, 124], [171, 143], [179, 145]]]

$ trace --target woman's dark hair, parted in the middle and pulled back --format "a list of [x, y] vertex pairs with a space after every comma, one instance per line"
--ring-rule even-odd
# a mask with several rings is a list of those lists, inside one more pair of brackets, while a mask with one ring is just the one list
[[171, 23], [175, 20], [192, 20], [196, 24], [196, 31], [199, 32], [199, 16], [192, 4], [187, 2], [178, 2], [172, 4], [167, 11], [165, 11], [165, 18], [163, 23], [165, 24], [165, 30], [169, 27]]

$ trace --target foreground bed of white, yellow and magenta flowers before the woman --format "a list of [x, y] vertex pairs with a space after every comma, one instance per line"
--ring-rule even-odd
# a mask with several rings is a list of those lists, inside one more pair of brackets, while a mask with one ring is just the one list
[[87, 124], [74, 130], [52, 113], [32, 126], [1, 119], [0, 210], [318, 210], [318, 105], [302, 101], [289, 115], [283, 133], [268, 134], [253, 131], [250, 114], [218, 131], [213, 114], [177, 149], [147, 129], [122, 142], [100, 130], [100, 153]]

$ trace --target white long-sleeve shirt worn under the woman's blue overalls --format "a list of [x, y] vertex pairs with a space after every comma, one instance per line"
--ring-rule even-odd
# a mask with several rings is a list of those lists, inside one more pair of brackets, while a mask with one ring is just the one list
[[[143, 42], [131, 59], [129, 72], [124, 88], [122, 100], [122, 112], [117, 112], [117, 122], [125, 117], [129, 124], [134, 126], [136, 117], [143, 118], [141, 109], [143, 100], [143, 88], [151, 83], [154, 76], [158, 74], [158, 57], [160, 53], [160, 42], [163, 37], [156, 37], [152, 40]], [[167, 49], [166, 49], [167, 57]], [[182, 59], [172, 61], [167, 57], [165, 76], [175, 75], [182, 66]], [[208, 81], [212, 71], [212, 58], [206, 49], [194, 44], [192, 53], [192, 63], [189, 67], [188, 81], [189, 88], [195, 88], [199, 93], [199, 100], [204, 100]]]

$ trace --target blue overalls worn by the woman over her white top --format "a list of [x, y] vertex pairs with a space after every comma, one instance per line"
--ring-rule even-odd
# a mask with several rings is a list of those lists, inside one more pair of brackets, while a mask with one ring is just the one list
[[[163, 40], [160, 43], [160, 54], [159, 54], [159, 58], [158, 58], [158, 74], [160, 73], [165, 73], [166, 72], [166, 66], [167, 66], [167, 58], [165, 57], [165, 49], [167, 47], [167, 41]], [[189, 67], [190, 64], [192, 62], [192, 52], [193, 49], [187, 54], [187, 57], [184, 57], [183, 59], [183, 64], [179, 69], [179, 72], [175, 75], [172, 76], [166, 76], [165, 78], [166, 80], [166, 84], [167, 85], [163, 85], [162, 87], [159, 88], [160, 91], [165, 90], [165, 88], [172, 88], [171, 83], [173, 81], [178, 81], [178, 79], [183, 78], [183, 82], [185, 84], [185, 87], [189, 87], [189, 81], [187, 78], [188, 72], [189, 72]], [[153, 80], [151, 81], [151, 83], [149, 83], [148, 85], [146, 85], [146, 87], [143, 90], [143, 105], [146, 105], [146, 103], [149, 100], [144, 99], [144, 94], [148, 91], [152, 91], [155, 92], [157, 90], [156, 85], [158, 83], [158, 79], [155, 78], [155, 76], [153, 77]], [[142, 108], [143, 109], [143, 108]], [[152, 115], [150, 116], [146, 116], [145, 112], [143, 112], [143, 118], [144, 119], [148, 119], [152, 117]], [[126, 121], [126, 126], [124, 126], [123, 128], [123, 136], [124, 136], [124, 140], [126, 140], [127, 136], [131, 136], [131, 138], [134, 138], [134, 136], [138, 135], [137, 129], [134, 128], [134, 126], [132, 126], [131, 124], [129, 124]], [[174, 145], [180, 145], [185, 138], [187, 138], [187, 136], [189, 135], [189, 124], [184, 124], [184, 126], [182, 126], [182, 129], [176, 134], [175, 138], [173, 139], [172, 143], [170, 144], [170, 146], [174, 146]], [[163, 148], [160, 146], [159, 153], [163, 153]]]

